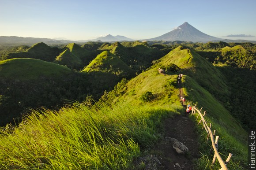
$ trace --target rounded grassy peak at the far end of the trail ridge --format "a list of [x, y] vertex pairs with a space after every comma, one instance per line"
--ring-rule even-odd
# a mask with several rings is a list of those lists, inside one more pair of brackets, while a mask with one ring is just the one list
[[190, 75], [211, 94], [219, 96], [218, 98], [229, 94], [224, 75], [206, 59], [190, 49], [179, 46], [159, 59], [158, 62], [157, 67], [163, 68], [168, 67], [171, 63], [177, 65], [181, 73]]

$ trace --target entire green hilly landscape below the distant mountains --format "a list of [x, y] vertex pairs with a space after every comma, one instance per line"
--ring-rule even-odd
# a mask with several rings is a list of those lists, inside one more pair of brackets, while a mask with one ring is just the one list
[[0, 169], [218, 170], [188, 104], [207, 113], [223, 159], [233, 154], [227, 167], [247, 169], [255, 76], [248, 42], [0, 46]]

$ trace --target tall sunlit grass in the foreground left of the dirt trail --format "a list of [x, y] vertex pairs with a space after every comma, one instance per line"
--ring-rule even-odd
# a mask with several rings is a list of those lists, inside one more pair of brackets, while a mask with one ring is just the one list
[[161, 137], [162, 118], [174, 112], [79, 103], [58, 112], [33, 111], [11, 133], [1, 130], [0, 169], [132, 169], [140, 148]]

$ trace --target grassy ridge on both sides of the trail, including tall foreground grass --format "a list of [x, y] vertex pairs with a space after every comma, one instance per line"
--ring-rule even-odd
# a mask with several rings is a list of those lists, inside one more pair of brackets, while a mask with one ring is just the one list
[[[199, 60], [201, 63], [197, 65]], [[177, 74], [169, 72], [169, 75], [162, 75], [157, 72], [159, 65], [172, 62], [176, 62], [176, 65], [184, 70], [183, 91], [188, 102], [197, 102], [198, 107], [203, 107], [207, 111], [207, 121], [212, 122], [213, 128], [220, 136], [219, 151], [225, 156], [228, 152], [234, 154], [232, 166], [245, 163], [247, 159], [245, 131], [234, 121], [221, 103], [202, 87], [211, 81], [214, 85], [209, 87], [210, 90], [218, 89], [215, 85], [219, 85], [223, 87], [220, 90], [225, 92], [223, 76], [218, 72], [216, 74], [213, 66], [207, 63], [203, 65], [204, 62], [199, 55], [177, 48], [160, 60], [157, 65], [139, 74], [124, 87], [120, 87], [122, 92], [116, 99], [119, 103], [114, 106], [113, 110], [106, 106], [101, 106], [96, 110], [87, 110], [86, 107], [79, 106], [63, 109], [59, 114], [44, 111], [45, 115], [49, 116], [39, 117], [39, 119], [37, 116], [31, 116], [32, 120], [27, 122], [27, 126], [21, 126], [14, 133], [1, 137], [0, 160], [2, 164], [0, 166], [2, 168], [111, 169], [118, 167], [132, 169], [132, 159], [139, 156], [138, 144], [142, 148], [147, 147], [148, 144], [154, 144], [159, 139], [156, 126], [159, 125], [161, 119], [170, 112], [181, 114], [184, 110], [179, 103], [177, 84], [175, 85]], [[205, 75], [207, 69], [209, 72]], [[221, 81], [215, 82], [211, 78], [207, 79], [206, 77], [215, 79], [215, 76], [209, 73], [215, 73], [216, 79], [219, 78]], [[197, 80], [202, 77], [203, 81], [198, 83]], [[146, 91], [151, 91], [154, 95], [149, 103], [138, 100]], [[110, 92], [109, 95], [111, 93], [115, 92]], [[134, 106], [124, 104], [124, 101]], [[31, 127], [33, 130], [28, 130]], [[31, 137], [34, 139], [33, 143], [26, 142], [30, 141]], [[202, 151], [203, 154], [207, 154], [208, 149]], [[113, 154], [116, 156], [111, 156]], [[116, 159], [117, 157], [119, 159]], [[207, 163], [201, 164], [207, 166]], [[234, 166], [232, 169], [239, 169], [239, 166]]]

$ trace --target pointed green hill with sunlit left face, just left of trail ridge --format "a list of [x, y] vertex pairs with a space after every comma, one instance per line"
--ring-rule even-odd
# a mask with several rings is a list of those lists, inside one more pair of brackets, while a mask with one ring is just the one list
[[126, 78], [132, 78], [135, 76], [135, 70], [132, 70], [116, 55], [113, 55], [108, 51], [104, 51], [99, 54], [83, 71], [101, 71]]

